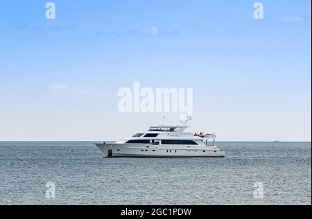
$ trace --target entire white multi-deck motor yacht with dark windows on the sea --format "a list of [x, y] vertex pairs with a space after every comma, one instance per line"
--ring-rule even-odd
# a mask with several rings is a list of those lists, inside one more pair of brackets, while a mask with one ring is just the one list
[[112, 157], [211, 157], [224, 158], [225, 153], [215, 145], [216, 135], [194, 135], [185, 132], [188, 120], [177, 126], [150, 126], [143, 131], [116, 142], [96, 146]]

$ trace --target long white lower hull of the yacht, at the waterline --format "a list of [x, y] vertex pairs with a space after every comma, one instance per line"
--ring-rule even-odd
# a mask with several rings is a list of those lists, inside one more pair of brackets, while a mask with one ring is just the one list
[[225, 153], [216, 146], [175, 145], [151, 146], [150, 144], [96, 144], [108, 158], [224, 158]]

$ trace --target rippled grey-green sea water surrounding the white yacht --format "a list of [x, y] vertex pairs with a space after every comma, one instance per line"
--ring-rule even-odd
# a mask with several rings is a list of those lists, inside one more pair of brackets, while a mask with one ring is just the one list
[[0, 142], [0, 204], [311, 204], [311, 142], [218, 146], [226, 158], [104, 158], [94, 142]]

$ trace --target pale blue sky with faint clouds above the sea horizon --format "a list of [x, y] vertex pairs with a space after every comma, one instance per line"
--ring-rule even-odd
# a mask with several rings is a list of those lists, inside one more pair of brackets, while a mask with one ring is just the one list
[[[191, 131], [311, 141], [311, 1], [0, 2], [0, 140], [115, 140], [178, 113], [117, 91], [193, 88]], [[53, 89], [53, 85], [60, 87]], [[62, 86], [63, 85], [63, 86]]]

